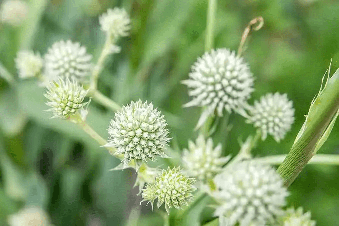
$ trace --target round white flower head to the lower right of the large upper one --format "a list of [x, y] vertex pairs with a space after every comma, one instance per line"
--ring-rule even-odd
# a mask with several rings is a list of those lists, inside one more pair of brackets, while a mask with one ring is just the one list
[[280, 142], [294, 122], [293, 102], [288, 100], [287, 94], [268, 93], [254, 102], [247, 122], [260, 129], [263, 140], [269, 134]]

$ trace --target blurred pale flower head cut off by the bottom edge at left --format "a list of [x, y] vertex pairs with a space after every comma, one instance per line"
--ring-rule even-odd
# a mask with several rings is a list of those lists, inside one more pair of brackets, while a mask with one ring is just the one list
[[51, 225], [47, 213], [40, 208], [26, 207], [8, 217], [10, 226], [49, 226]]

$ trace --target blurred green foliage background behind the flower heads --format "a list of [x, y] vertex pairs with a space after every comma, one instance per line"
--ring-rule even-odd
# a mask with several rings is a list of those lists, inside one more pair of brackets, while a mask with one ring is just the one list
[[[131, 16], [130, 36], [107, 61], [99, 90], [119, 104], [152, 101], [166, 116], [171, 146], [179, 152], [195, 139], [198, 108], [189, 101], [180, 80], [204, 52], [207, 0], [27, 0], [24, 24], [0, 23], [0, 63], [17, 79], [14, 58], [19, 49], [43, 55], [59, 40], [80, 42], [98, 58], [104, 44], [98, 16], [108, 8], [125, 8]], [[1, 0], [0, 0], [1, 4]], [[243, 54], [256, 77], [252, 103], [267, 92], [287, 93], [296, 121], [286, 139], [261, 142], [254, 156], [286, 154], [304, 122], [311, 100], [332, 60], [339, 67], [339, 1], [337, 0], [219, 0], [215, 48], [236, 50], [247, 23], [262, 16], [263, 28], [253, 33]], [[133, 188], [135, 172], [108, 171], [119, 161], [76, 125], [49, 119], [44, 88], [36, 80], [11, 85], [0, 76], [0, 225], [24, 206], [50, 215], [55, 226], [162, 225], [150, 205], [139, 205]], [[91, 103], [88, 123], [104, 138], [113, 113]], [[239, 140], [254, 133], [238, 115], [228, 138], [226, 126], [215, 135], [224, 155], [239, 150]], [[319, 153], [339, 154], [339, 129]], [[166, 167], [166, 162], [160, 162]], [[290, 206], [311, 211], [317, 225], [339, 222], [339, 166], [308, 165], [289, 188]], [[139, 220], [129, 220], [138, 215]], [[130, 214], [132, 213], [132, 217]], [[198, 217], [198, 216], [197, 216]], [[135, 218], [135, 217], [134, 217]]]

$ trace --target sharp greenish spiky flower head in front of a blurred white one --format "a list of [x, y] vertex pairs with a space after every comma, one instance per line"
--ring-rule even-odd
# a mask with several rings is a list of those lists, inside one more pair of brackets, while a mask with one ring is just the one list
[[47, 93], [44, 94], [49, 100], [46, 105], [51, 107], [47, 111], [53, 112], [53, 118], [70, 119], [76, 113], [83, 116], [81, 111], [86, 111], [84, 107], [89, 103], [84, 102], [87, 92], [75, 80], [70, 81], [67, 78], [53, 81], [47, 86]]

